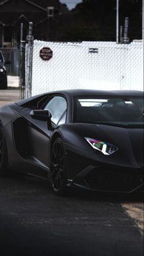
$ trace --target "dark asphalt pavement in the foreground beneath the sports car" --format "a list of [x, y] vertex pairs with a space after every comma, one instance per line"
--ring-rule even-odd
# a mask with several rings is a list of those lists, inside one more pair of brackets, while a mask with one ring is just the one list
[[47, 181], [12, 173], [0, 179], [0, 205], [1, 256], [143, 255], [143, 236], [119, 196], [58, 197]]

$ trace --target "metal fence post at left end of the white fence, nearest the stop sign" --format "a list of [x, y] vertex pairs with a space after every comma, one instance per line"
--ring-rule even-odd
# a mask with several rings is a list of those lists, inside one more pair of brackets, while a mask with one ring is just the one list
[[33, 53], [33, 42], [34, 37], [32, 35], [32, 25], [29, 23], [29, 32], [26, 37], [27, 46], [26, 46], [26, 86], [25, 86], [25, 97], [31, 97], [32, 92], [32, 53]]

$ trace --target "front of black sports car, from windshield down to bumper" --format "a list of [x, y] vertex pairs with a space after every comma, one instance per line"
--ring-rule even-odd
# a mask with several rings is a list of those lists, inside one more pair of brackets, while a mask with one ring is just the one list
[[76, 97], [74, 104], [74, 123], [67, 128], [73, 135], [65, 144], [69, 183], [143, 191], [143, 97]]

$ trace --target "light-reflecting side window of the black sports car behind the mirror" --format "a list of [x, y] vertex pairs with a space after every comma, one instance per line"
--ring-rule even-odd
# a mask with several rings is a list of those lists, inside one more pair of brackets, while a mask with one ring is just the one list
[[65, 118], [63, 118], [64, 113], [67, 110], [67, 101], [65, 100], [65, 98], [61, 96], [55, 96], [54, 98], [48, 101], [48, 103], [45, 106], [45, 110], [48, 110], [51, 113], [51, 121], [55, 125], [57, 125], [59, 121], [60, 124], [65, 123]]

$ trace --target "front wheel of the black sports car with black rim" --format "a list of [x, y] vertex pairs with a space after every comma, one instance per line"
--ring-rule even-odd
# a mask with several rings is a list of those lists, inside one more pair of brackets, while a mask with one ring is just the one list
[[57, 138], [51, 148], [51, 185], [55, 194], [67, 196], [67, 168], [62, 139]]

